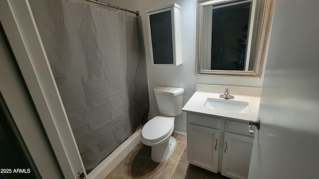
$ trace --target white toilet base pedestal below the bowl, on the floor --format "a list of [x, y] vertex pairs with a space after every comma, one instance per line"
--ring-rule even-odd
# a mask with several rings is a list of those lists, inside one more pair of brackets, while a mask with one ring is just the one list
[[171, 152], [176, 146], [176, 139], [172, 136], [169, 137], [169, 139], [160, 144], [152, 146], [152, 160], [157, 163], [164, 162], [170, 157]]

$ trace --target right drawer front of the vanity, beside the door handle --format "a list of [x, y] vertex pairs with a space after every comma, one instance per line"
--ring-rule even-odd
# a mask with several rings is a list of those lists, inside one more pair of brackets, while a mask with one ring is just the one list
[[233, 132], [237, 134], [246, 135], [249, 137], [254, 137], [254, 135], [249, 133], [248, 130], [248, 121], [246, 122], [238, 122], [232, 120], [226, 120], [226, 129], [227, 132]]

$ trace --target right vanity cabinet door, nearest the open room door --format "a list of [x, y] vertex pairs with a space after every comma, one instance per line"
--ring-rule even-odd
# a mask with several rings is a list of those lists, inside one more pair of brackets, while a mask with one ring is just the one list
[[252, 137], [225, 132], [221, 174], [232, 179], [247, 179], [253, 148]]

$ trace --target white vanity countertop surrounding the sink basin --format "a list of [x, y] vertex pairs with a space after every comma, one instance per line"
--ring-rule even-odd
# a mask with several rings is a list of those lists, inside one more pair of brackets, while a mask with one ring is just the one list
[[[223, 116], [227, 118], [240, 119], [240, 120], [257, 120], [258, 118], [258, 110], [260, 104], [260, 97], [256, 96], [245, 96], [245, 95], [234, 95], [235, 99], [223, 99], [220, 98], [219, 95], [221, 93], [213, 93], [213, 92], [200, 92], [196, 91], [185, 106], [182, 108], [183, 111], [190, 111], [196, 113], [203, 113], [215, 116]], [[245, 101], [249, 103], [250, 113], [239, 113], [239, 112], [231, 112], [227, 110], [221, 109], [212, 109], [204, 107], [207, 98], [216, 98], [223, 100], [234, 100], [234, 101]]]

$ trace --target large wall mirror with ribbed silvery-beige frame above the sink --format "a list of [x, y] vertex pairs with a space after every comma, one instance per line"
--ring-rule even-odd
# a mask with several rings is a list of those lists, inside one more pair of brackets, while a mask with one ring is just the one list
[[275, 0], [197, 0], [196, 75], [260, 78]]

